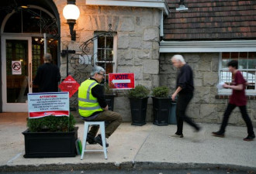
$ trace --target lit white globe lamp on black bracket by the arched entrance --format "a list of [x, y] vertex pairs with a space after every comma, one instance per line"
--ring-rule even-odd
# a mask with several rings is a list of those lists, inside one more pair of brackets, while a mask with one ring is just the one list
[[75, 0], [67, 0], [67, 5], [63, 9], [63, 15], [67, 19], [67, 24], [71, 32], [71, 40], [75, 40], [74, 24], [80, 15], [78, 6], [75, 5]]

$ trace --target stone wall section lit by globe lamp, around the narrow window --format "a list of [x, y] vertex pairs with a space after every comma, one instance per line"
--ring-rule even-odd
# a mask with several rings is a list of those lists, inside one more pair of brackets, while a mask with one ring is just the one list
[[[112, 32], [117, 35], [117, 66], [116, 73], [135, 73], [135, 84], [143, 84], [152, 89], [159, 85], [159, 26], [161, 12], [158, 9], [88, 6], [85, 1], [77, 0], [80, 17], [74, 29], [77, 32], [76, 41], [71, 41], [69, 28], [62, 15], [67, 1], [55, 0], [61, 18], [61, 49], [74, 49], [79, 52], [79, 46], [94, 36], [94, 32], [108, 31], [112, 24]], [[93, 50], [93, 46], [90, 48]], [[71, 58], [71, 57], [70, 57]], [[90, 71], [85, 66], [84, 73]], [[69, 72], [77, 73], [69, 65]], [[61, 57], [61, 76], [66, 76], [66, 58]], [[81, 83], [86, 77], [80, 77]], [[76, 79], [77, 80], [77, 79]], [[126, 91], [116, 91], [115, 111], [123, 115], [124, 121], [131, 121], [130, 102]], [[77, 94], [71, 98], [76, 106]], [[147, 120], [151, 120], [151, 101]]]

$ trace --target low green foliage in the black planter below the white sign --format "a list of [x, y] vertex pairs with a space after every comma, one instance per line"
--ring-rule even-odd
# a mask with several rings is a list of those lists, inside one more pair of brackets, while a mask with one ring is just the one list
[[[68, 123], [69, 121], [69, 123]], [[50, 131], [50, 132], [67, 132], [73, 131], [75, 119], [72, 114], [69, 117], [47, 116], [44, 118], [31, 118], [27, 120], [27, 127], [30, 132]]]

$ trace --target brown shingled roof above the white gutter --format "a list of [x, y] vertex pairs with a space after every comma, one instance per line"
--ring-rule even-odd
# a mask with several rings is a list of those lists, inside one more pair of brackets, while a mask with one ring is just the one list
[[164, 40], [256, 39], [256, 0], [185, 0], [187, 11], [175, 10], [179, 0], [166, 1]]

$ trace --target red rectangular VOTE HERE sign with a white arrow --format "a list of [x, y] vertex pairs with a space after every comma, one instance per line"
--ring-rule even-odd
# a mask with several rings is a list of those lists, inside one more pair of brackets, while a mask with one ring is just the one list
[[134, 88], [134, 73], [109, 73], [109, 88]]

